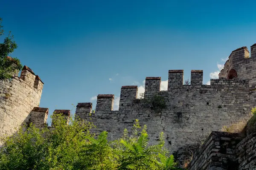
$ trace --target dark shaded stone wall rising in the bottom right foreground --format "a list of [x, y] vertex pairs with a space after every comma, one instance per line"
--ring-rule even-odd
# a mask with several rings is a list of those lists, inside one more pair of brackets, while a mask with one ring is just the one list
[[241, 133], [213, 131], [193, 153], [189, 170], [255, 170], [256, 116]]

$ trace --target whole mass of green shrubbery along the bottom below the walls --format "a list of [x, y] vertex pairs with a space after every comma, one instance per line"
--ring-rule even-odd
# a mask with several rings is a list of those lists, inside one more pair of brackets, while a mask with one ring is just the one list
[[0, 148], [0, 170], [171, 170], [177, 169], [174, 157], [168, 156], [164, 136], [160, 142], [148, 144], [146, 126], [136, 120], [129, 135], [108, 141], [108, 133], [97, 137], [90, 133], [94, 125], [67, 119], [60, 114], [52, 117], [52, 127], [38, 129], [34, 125], [20, 128], [7, 137]]

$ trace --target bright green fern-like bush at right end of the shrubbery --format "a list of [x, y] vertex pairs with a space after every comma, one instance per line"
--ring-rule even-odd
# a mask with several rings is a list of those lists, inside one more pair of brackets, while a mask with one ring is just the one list
[[[146, 125], [140, 129], [139, 120], [134, 124], [133, 135], [128, 136], [127, 130], [119, 140], [121, 144], [118, 170], [171, 170], [177, 169], [174, 156], [167, 156], [168, 151], [164, 148], [163, 133], [160, 133], [160, 142], [148, 146], [148, 133]], [[139, 135], [140, 133], [140, 135]]]

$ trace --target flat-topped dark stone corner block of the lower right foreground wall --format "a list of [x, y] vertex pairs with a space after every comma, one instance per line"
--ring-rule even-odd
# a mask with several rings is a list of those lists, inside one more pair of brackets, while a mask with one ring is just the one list
[[193, 153], [189, 170], [236, 170], [238, 133], [212, 131], [204, 144]]

